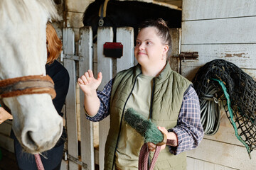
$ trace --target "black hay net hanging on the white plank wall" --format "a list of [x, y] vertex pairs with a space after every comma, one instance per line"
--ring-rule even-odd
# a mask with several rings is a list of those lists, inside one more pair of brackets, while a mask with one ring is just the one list
[[[256, 81], [235, 64], [218, 59], [206, 63], [198, 70], [193, 85], [200, 103], [205, 102], [209, 89], [214, 89], [214, 98], [222, 101], [236, 137], [245, 145], [250, 155], [256, 147]], [[214, 114], [218, 115], [219, 112], [215, 111]], [[213, 132], [216, 132], [219, 123], [213, 124]], [[206, 125], [203, 128], [205, 130]]]

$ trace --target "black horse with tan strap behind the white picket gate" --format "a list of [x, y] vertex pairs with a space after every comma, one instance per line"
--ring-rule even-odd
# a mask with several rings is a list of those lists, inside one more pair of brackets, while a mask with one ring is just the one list
[[97, 35], [100, 26], [112, 26], [114, 35], [117, 27], [134, 28], [136, 40], [140, 23], [147, 19], [163, 18], [169, 28], [181, 28], [181, 9], [169, 4], [147, 3], [144, 1], [95, 0], [85, 9], [82, 18], [84, 26], [92, 27], [92, 34]]

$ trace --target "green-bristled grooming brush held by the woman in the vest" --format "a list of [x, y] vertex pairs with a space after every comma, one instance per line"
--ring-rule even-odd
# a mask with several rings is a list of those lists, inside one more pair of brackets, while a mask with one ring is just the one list
[[166, 135], [162, 133], [151, 120], [146, 120], [133, 108], [128, 108], [124, 113], [124, 121], [144, 137], [145, 142], [152, 142], [156, 145], [166, 144]]

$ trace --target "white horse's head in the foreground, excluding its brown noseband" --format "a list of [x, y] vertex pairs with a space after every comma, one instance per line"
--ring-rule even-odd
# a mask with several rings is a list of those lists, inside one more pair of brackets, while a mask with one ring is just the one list
[[[58, 17], [52, 0], [0, 1], [0, 80], [46, 76], [46, 23]], [[63, 119], [49, 94], [0, 99], [14, 116], [14, 134], [26, 152], [36, 154], [54, 147]]]

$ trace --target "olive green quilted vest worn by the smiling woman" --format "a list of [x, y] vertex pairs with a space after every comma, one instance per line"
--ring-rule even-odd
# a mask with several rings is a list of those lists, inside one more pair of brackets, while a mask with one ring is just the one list
[[[110, 130], [105, 145], [105, 169], [112, 169], [115, 149], [118, 145], [117, 138], [120, 125], [124, 124], [123, 115], [129, 94], [132, 93], [137, 76], [142, 71], [137, 65], [130, 69], [119, 72], [114, 79], [110, 98]], [[165, 127], [167, 130], [174, 128], [181, 109], [183, 95], [191, 85], [191, 82], [180, 74], [173, 72], [167, 62], [164, 70], [158, 77], [154, 78], [152, 122], [157, 126]], [[152, 159], [154, 152], [151, 152]], [[171, 154], [166, 147], [159, 154], [154, 169], [186, 169], [186, 154]]]

